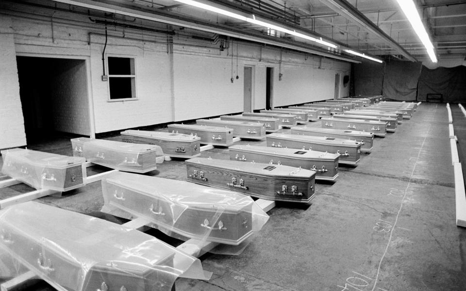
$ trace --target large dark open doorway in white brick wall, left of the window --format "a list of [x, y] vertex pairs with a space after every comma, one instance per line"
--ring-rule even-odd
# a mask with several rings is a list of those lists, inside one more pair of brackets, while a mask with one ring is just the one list
[[28, 145], [61, 133], [89, 135], [85, 60], [17, 57]]

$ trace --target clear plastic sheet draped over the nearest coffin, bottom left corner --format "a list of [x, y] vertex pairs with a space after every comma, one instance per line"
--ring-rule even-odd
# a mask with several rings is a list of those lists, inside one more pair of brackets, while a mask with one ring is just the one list
[[0, 249], [60, 290], [170, 291], [199, 259], [135, 229], [26, 202], [0, 211]]

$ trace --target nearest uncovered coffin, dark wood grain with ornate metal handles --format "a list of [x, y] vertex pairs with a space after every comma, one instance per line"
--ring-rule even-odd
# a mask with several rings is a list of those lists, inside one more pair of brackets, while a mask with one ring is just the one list
[[187, 181], [257, 198], [308, 203], [316, 172], [285, 165], [194, 158], [186, 161]]

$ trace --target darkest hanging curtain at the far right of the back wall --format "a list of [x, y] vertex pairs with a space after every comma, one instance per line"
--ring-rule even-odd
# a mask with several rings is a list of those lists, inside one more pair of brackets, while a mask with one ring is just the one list
[[426, 100], [427, 94], [442, 94], [443, 102], [464, 102], [466, 100], [466, 66], [436, 69], [422, 66], [417, 99]]

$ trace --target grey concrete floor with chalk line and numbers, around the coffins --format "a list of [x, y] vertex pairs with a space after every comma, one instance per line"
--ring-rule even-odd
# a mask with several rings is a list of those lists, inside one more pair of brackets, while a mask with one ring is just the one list
[[[452, 111], [454, 120], [461, 117]], [[308, 126], [320, 127], [320, 122]], [[465, 133], [465, 129], [465, 122], [455, 124], [455, 132]], [[265, 141], [239, 143], [265, 146]], [[69, 139], [64, 138], [29, 148], [72, 154]], [[201, 156], [229, 159], [227, 148], [204, 151]], [[88, 168], [89, 173], [103, 170]], [[164, 162], [150, 175], [183, 180], [185, 165], [183, 160]], [[0, 190], [0, 198], [29, 190], [24, 184], [11, 186]], [[40, 201], [121, 221], [99, 212], [103, 204], [100, 182]], [[357, 167], [340, 167], [335, 183], [316, 184], [316, 198], [310, 207], [278, 204], [268, 214], [269, 221], [243, 254], [204, 255], [203, 267], [214, 273], [212, 278], [180, 278], [176, 289], [466, 289], [466, 229], [455, 225], [445, 104], [422, 103], [395, 133], [376, 138], [372, 153], [363, 155]], [[156, 231], [153, 234], [160, 236]], [[49, 289], [36, 286], [31, 290]]]

